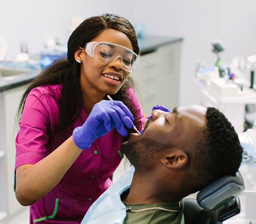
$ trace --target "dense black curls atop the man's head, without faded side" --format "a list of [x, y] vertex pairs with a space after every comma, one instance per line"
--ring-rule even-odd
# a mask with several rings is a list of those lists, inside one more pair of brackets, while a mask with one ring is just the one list
[[206, 118], [212, 160], [209, 175], [216, 178], [223, 175], [234, 176], [241, 164], [243, 152], [238, 135], [227, 118], [216, 108], [207, 108]]

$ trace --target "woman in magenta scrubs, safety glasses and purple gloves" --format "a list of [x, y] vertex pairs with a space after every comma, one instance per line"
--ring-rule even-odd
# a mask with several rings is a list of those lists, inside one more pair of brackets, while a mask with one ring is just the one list
[[30, 223], [80, 223], [111, 184], [127, 128], [141, 130], [144, 119], [129, 77], [138, 68], [138, 52], [127, 19], [91, 17], [71, 34], [67, 59], [27, 87], [15, 172], [16, 198], [30, 205]]

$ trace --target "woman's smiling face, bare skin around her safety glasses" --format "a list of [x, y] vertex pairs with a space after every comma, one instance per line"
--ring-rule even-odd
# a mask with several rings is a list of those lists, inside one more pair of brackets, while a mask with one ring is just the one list
[[[115, 43], [133, 51], [132, 43], [126, 34], [118, 30], [104, 30], [92, 41]], [[80, 54], [80, 84], [82, 89], [97, 95], [115, 94], [129, 76], [121, 60], [106, 64], [89, 56], [84, 49]]]

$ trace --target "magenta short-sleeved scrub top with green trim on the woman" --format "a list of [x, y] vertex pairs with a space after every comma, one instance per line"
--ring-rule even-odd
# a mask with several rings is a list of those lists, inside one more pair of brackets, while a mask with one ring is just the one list
[[[15, 170], [22, 164], [36, 164], [59, 146], [53, 130], [58, 123], [58, 100], [62, 85], [44, 85], [31, 90], [22, 112], [16, 137]], [[137, 108], [137, 120], [142, 128], [144, 116], [133, 90], [128, 90]], [[67, 137], [84, 124], [85, 110], [67, 130]], [[30, 223], [77, 224], [92, 203], [112, 184], [109, 177], [118, 167], [119, 151], [124, 137], [116, 129], [97, 138], [82, 151], [57, 186], [30, 206]], [[36, 181], [36, 180], [35, 180]]]

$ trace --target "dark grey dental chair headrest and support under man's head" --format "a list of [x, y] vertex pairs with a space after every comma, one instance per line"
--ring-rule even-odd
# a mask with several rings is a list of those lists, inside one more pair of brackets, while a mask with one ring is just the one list
[[240, 213], [238, 195], [244, 190], [241, 173], [225, 176], [199, 191], [197, 198], [184, 199], [185, 224], [222, 224]]

